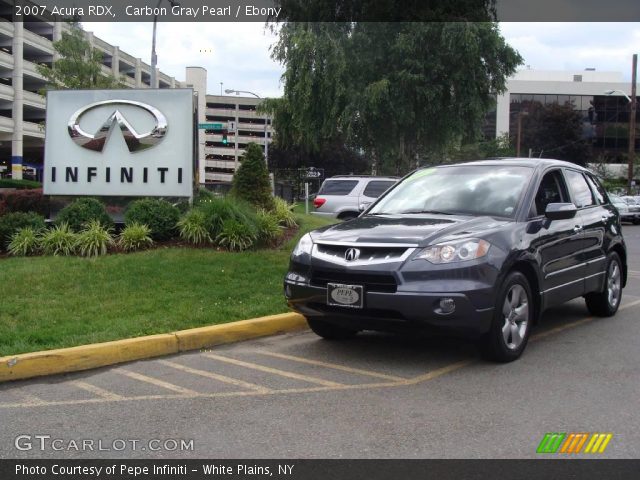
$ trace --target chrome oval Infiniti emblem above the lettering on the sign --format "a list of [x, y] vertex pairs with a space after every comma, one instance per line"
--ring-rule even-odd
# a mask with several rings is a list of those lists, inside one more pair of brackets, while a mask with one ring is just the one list
[[[141, 108], [153, 116], [155, 126], [148, 132], [138, 133], [127, 121], [120, 110], [116, 108], [113, 113], [107, 117], [95, 134], [92, 135], [80, 128], [80, 120], [85, 113], [93, 110], [94, 108], [110, 105], [132, 105], [134, 107]], [[102, 152], [102, 149], [107, 142], [107, 138], [109, 137], [109, 132], [111, 132], [116, 124], [120, 128], [124, 141], [126, 142], [127, 148], [130, 152], [139, 152], [153, 147], [154, 145], [157, 145], [167, 134], [167, 119], [162, 112], [151, 105], [147, 105], [142, 102], [135, 102], [133, 100], [105, 100], [103, 102], [95, 102], [90, 105], [86, 105], [71, 115], [67, 128], [71, 139], [77, 145], [96, 152]]]

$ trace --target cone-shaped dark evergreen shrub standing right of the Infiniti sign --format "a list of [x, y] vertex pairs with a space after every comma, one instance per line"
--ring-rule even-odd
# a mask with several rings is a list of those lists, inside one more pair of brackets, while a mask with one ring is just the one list
[[247, 150], [242, 156], [242, 164], [233, 176], [231, 194], [256, 208], [273, 208], [269, 171], [262, 155], [262, 148], [257, 143], [247, 145]]

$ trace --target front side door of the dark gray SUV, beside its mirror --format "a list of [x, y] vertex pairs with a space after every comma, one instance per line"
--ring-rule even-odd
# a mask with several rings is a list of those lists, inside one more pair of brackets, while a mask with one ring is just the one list
[[542, 270], [541, 291], [545, 306], [562, 303], [584, 293], [585, 265], [581, 255], [583, 233], [578, 217], [549, 220], [549, 203], [570, 203], [562, 171], [544, 173], [531, 206], [529, 228], [538, 230], [532, 243]]

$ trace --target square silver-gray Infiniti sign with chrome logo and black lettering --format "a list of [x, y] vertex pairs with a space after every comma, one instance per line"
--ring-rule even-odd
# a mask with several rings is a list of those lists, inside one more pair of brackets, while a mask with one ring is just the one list
[[46, 113], [46, 195], [193, 195], [192, 89], [54, 90]]

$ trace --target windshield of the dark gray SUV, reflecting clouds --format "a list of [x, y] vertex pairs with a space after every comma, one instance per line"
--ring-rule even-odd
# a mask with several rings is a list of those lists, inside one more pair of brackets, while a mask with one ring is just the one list
[[529, 167], [506, 165], [456, 165], [418, 170], [369, 213], [513, 217], [532, 173]]

